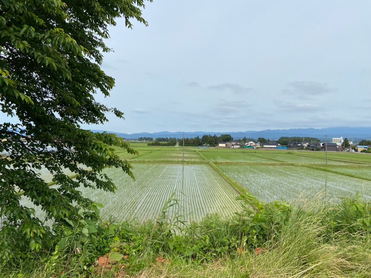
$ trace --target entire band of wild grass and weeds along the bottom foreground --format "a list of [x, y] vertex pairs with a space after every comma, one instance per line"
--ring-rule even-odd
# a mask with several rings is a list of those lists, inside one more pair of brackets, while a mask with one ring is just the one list
[[[166, 212], [178, 211], [174, 209], [178, 199], [172, 197], [156, 221], [102, 224], [104, 228], [96, 241], [86, 246], [67, 268], [63, 257], [53, 261], [53, 254], [39, 254], [34, 259], [24, 259], [13, 269], [4, 267], [0, 276], [371, 277], [370, 227], [361, 223], [362, 219], [370, 219], [368, 203], [349, 199], [339, 204], [326, 203], [323, 196], [298, 199], [291, 204], [279, 236], [265, 242], [259, 251], [256, 246], [242, 248], [241, 231], [229, 225], [230, 219], [207, 215], [200, 222], [185, 224], [181, 215], [175, 213], [171, 221]], [[109, 271], [92, 266], [97, 257], [109, 251], [107, 246], [115, 238], [132, 242], [132, 255]], [[203, 250], [187, 253], [204, 239], [210, 242], [200, 247]], [[169, 242], [174, 246], [178, 242], [178, 247], [170, 248]], [[158, 260], [159, 255], [165, 261]]]

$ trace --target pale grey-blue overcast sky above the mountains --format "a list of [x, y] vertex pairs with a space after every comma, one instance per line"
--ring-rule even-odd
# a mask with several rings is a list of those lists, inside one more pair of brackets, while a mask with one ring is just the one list
[[371, 126], [371, 1], [147, 3], [110, 28], [116, 132]]

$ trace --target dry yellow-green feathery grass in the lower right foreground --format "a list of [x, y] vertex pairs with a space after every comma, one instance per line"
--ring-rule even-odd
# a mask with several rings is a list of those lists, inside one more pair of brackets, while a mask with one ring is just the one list
[[329, 236], [334, 214], [344, 214], [345, 208], [322, 200], [298, 200], [280, 239], [267, 242], [259, 254], [246, 250], [203, 264], [177, 260], [135, 277], [371, 277], [370, 232], [335, 231]]

